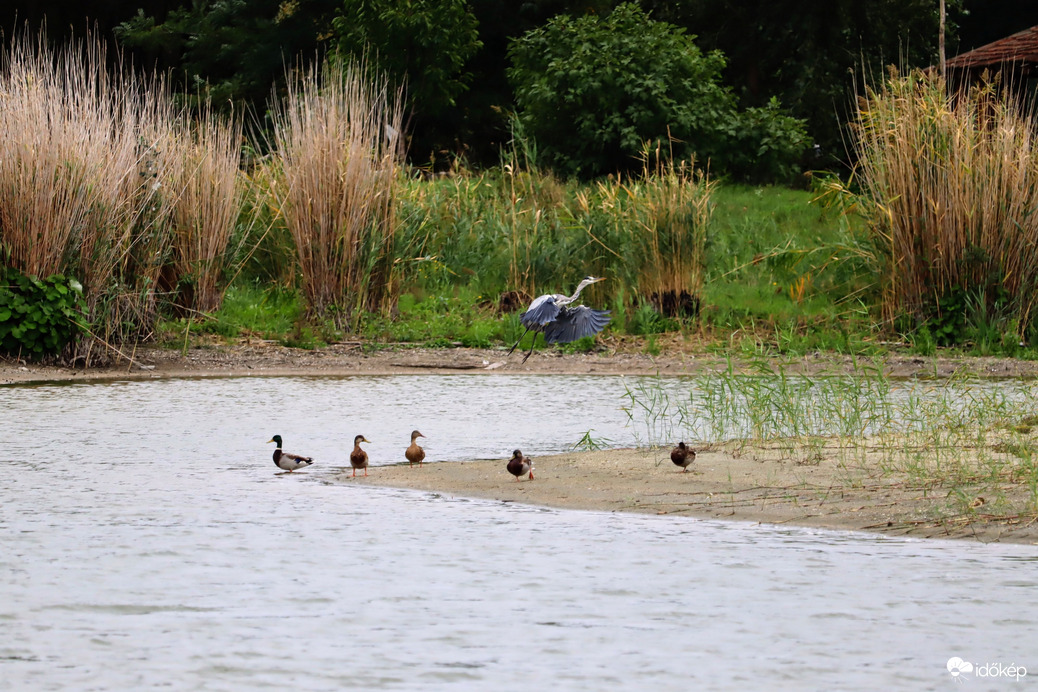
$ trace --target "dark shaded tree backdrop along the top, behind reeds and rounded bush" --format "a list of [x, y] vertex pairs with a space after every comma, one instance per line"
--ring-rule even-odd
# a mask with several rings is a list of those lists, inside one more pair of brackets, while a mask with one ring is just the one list
[[[366, 28], [361, 33], [373, 53], [397, 62], [387, 68], [406, 63], [412, 85], [427, 83], [426, 70], [453, 71], [455, 58], [467, 56], [456, 81], [468, 88], [449, 96], [454, 105], [439, 110], [422, 104], [422, 98], [415, 100], [419, 116], [409, 127], [412, 161], [424, 164], [433, 153], [442, 160], [446, 153], [447, 159], [464, 156], [472, 163], [495, 164], [499, 146], [510, 137], [509, 114], [515, 106], [504, 78], [509, 41], [553, 17], [605, 17], [617, 4], [617, 0], [424, 0], [398, 5], [385, 0], [12, 0], [0, 3], [0, 27], [6, 32], [25, 23], [29, 29], [46, 31], [57, 44], [86, 31], [107, 38], [118, 27], [119, 44], [129, 49], [136, 65], [168, 70], [187, 93], [208, 87], [214, 103], [235, 108], [245, 103], [262, 115], [271, 87], [282, 84], [285, 67], [300, 59], [323, 58], [324, 50], [339, 43], [342, 31], [333, 28], [336, 16], [344, 18], [340, 30], [353, 31], [357, 27], [344, 24], [345, 18], [355, 16], [358, 8], [381, 8], [376, 13], [365, 10], [361, 25]], [[792, 115], [804, 119], [821, 155], [805, 163], [816, 169], [846, 159], [855, 78], [880, 75], [891, 63], [917, 67], [937, 60], [935, 0], [638, 0], [638, 4], [654, 20], [695, 34], [704, 53], [725, 54], [721, 79], [740, 108], [767, 108], [777, 98]], [[949, 56], [1038, 24], [1035, 3], [948, 0], [946, 4]], [[439, 37], [458, 34], [462, 8], [475, 18], [482, 47], [469, 54], [470, 41], [462, 32], [457, 47], [447, 47], [442, 58], [429, 52]], [[389, 30], [390, 26], [395, 28]], [[10, 35], [5, 33], [4, 39]], [[438, 114], [430, 115], [434, 112]]]

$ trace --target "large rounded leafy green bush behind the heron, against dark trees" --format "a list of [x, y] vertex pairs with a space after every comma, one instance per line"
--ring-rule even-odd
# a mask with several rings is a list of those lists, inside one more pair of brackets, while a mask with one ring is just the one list
[[604, 19], [561, 15], [509, 54], [523, 130], [564, 174], [636, 169], [649, 142], [679, 159], [709, 161], [715, 171], [773, 176], [789, 170], [804, 145], [802, 123], [776, 102], [737, 111], [720, 83], [719, 52], [702, 53], [683, 29], [633, 4]]

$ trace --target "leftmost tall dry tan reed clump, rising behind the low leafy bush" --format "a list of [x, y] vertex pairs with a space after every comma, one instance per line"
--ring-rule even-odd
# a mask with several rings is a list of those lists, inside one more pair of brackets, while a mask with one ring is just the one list
[[27, 274], [84, 286], [98, 343], [146, 333], [167, 248], [156, 155], [172, 119], [157, 79], [109, 72], [95, 40], [15, 40], [0, 70], [0, 242]]

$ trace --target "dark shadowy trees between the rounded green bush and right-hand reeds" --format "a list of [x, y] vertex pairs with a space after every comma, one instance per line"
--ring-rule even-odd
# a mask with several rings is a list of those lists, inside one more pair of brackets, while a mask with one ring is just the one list
[[[961, 4], [949, 0], [949, 13]], [[643, 5], [659, 20], [696, 31], [704, 50], [729, 57], [725, 80], [741, 105], [761, 107], [777, 96], [804, 118], [826, 154], [818, 166], [845, 157], [855, 84], [882, 79], [889, 64], [924, 67], [937, 59], [937, 0], [643, 0]]]

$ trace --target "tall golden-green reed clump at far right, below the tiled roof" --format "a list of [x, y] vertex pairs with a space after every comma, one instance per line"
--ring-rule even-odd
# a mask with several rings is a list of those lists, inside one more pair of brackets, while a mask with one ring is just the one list
[[892, 73], [859, 100], [857, 171], [885, 248], [884, 312], [926, 321], [965, 296], [1008, 300], [1022, 333], [1038, 299], [1033, 114], [996, 85], [950, 94], [939, 77]]

